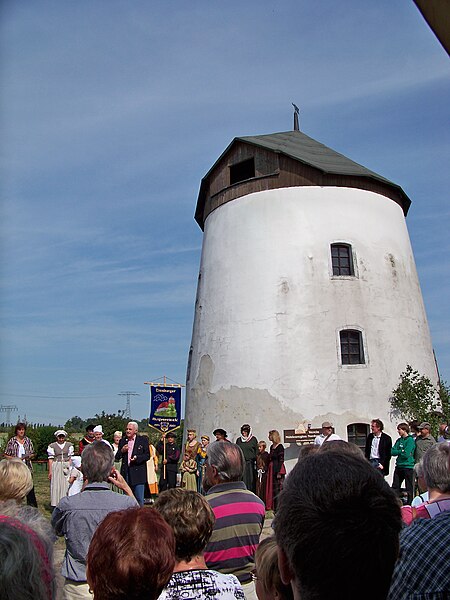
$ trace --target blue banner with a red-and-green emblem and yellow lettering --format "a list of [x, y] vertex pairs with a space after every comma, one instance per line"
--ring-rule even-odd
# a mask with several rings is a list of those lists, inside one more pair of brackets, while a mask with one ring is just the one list
[[171, 431], [181, 423], [181, 387], [150, 386], [149, 425], [162, 432]]

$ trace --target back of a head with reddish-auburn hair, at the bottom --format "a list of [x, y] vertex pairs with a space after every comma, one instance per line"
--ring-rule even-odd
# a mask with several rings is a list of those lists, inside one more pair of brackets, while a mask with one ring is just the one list
[[89, 545], [87, 580], [95, 600], [156, 600], [175, 566], [172, 529], [151, 508], [109, 513]]

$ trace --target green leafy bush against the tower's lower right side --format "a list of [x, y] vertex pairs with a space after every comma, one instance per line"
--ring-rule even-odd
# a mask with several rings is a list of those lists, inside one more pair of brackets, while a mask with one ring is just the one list
[[421, 375], [411, 365], [400, 375], [400, 383], [392, 390], [392, 414], [397, 418], [428, 421], [436, 432], [442, 418], [439, 391], [429, 377]]

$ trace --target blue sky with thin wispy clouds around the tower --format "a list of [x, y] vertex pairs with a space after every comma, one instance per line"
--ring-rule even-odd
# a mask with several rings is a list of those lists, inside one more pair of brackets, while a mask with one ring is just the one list
[[[401, 185], [450, 380], [449, 60], [412, 1], [5, 0], [0, 404], [64, 423], [184, 382], [200, 180], [300, 127]], [[405, 363], [406, 364], [406, 363]], [[0, 420], [3, 420], [0, 415]]]

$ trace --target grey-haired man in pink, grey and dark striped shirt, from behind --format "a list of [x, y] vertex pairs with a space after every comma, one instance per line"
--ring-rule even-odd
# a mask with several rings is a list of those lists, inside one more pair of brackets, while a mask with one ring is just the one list
[[231, 442], [208, 446], [203, 487], [216, 517], [205, 560], [210, 569], [235, 575], [245, 597], [256, 598], [251, 572], [259, 544], [265, 506], [245, 487], [242, 450]]

